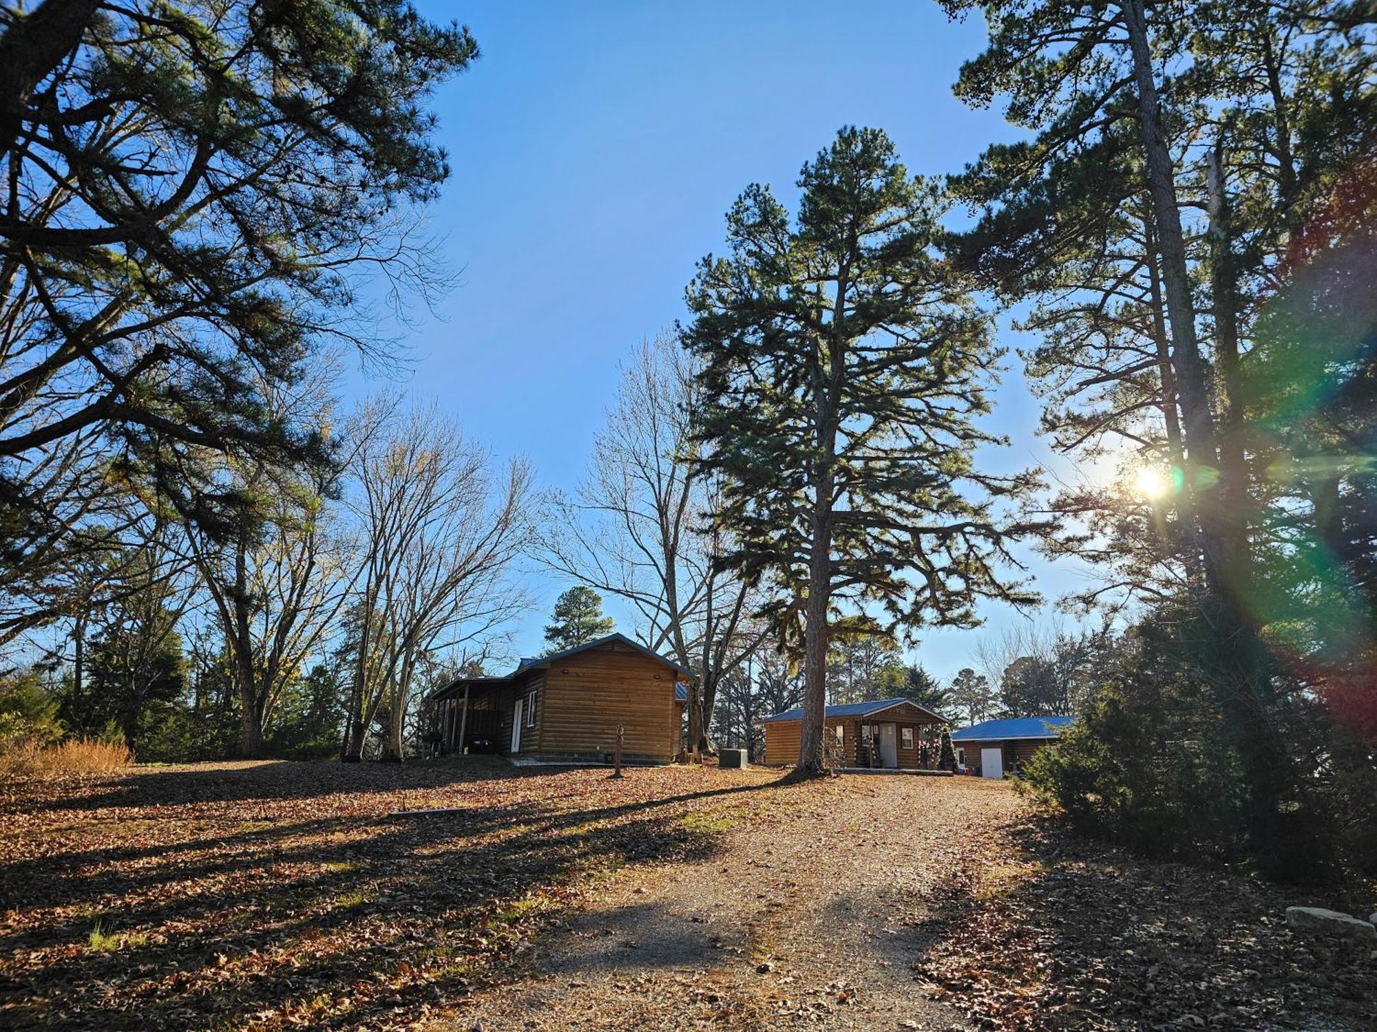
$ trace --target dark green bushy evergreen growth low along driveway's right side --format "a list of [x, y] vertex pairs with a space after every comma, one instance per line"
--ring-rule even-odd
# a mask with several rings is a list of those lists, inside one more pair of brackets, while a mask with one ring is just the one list
[[1259, 698], [1282, 791], [1265, 815], [1274, 834], [1250, 834], [1248, 742], [1226, 717], [1208, 641], [1180, 611], [1126, 634], [1075, 725], [1027, 764], [1020, 788], [1080, 830], [1153, 856], [1252, 861], [1271, 878], [1352, 892], [1377, 881], [1373, 743], [1345, 735], [1270, 659]]

